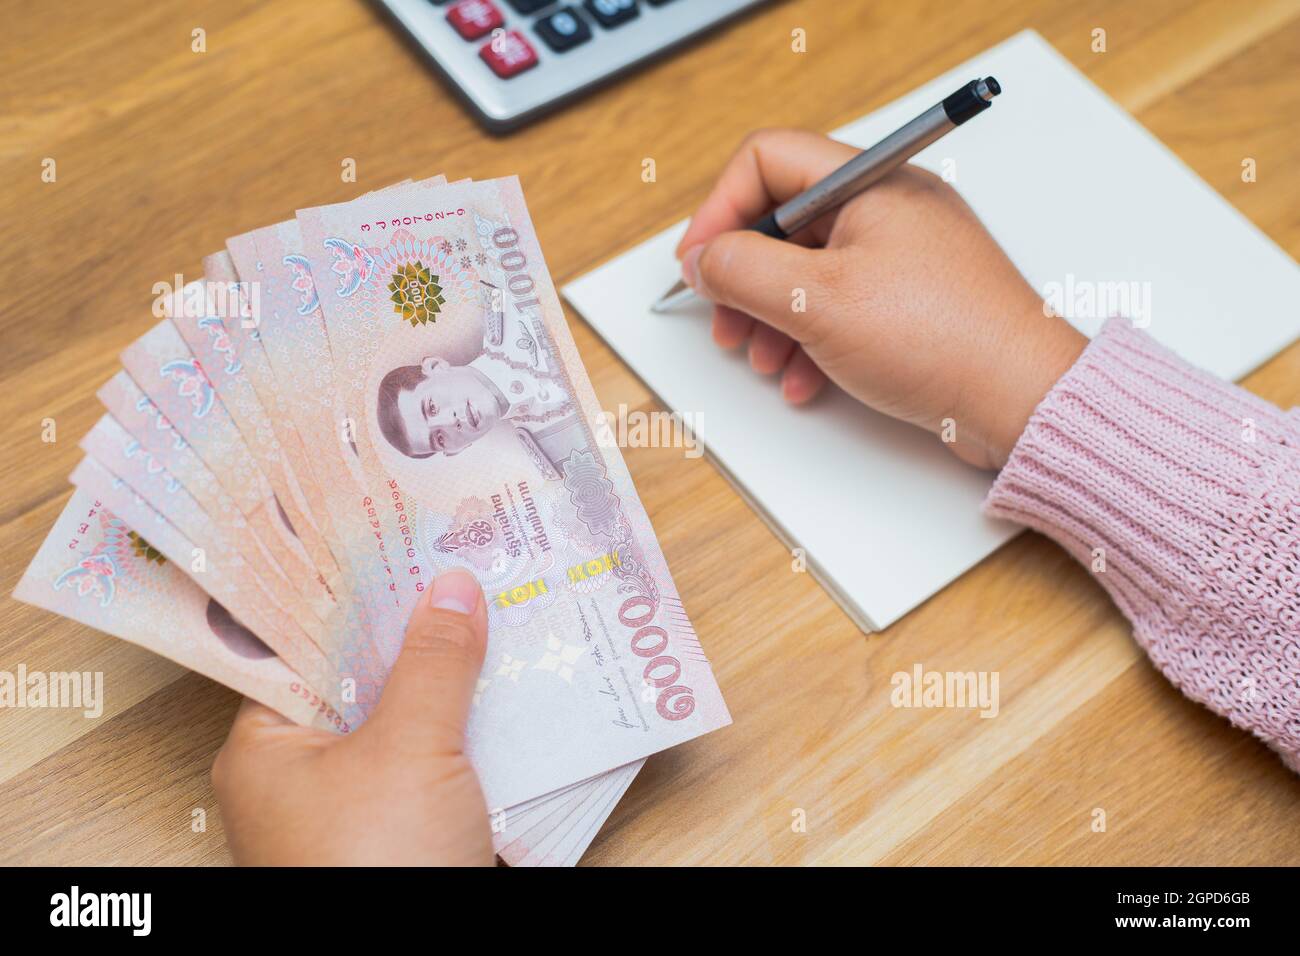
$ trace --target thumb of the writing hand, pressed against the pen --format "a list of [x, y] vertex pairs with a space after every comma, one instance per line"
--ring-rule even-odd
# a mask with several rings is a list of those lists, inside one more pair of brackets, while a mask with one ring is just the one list
[[828, 267], [836, 254], [783, 242], [753, 230], [722, 233], [686, 251], [681, 274], [706, 299], [748, 312], [797, 342], [812, 337], [806, 310], [794, 308], [798, 290], [805, 299], [822, 298]]

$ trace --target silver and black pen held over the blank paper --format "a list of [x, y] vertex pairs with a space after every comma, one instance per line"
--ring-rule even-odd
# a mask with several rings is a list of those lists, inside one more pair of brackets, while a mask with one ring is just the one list
[[[972, 79], [942, 101], [936, 103], [911, 122], [898, 127], [870, 150], [863, 150], [824, 179], [793, 199], [777, 206], [754, 225], [754, 232], [785, 239], [831, 209], [844, 206], [853, 196], [884, 178], [892, 169], [931, 143], [957, 129], [972, 116], [992, 105], [1002, 87], [993, 77]], [[679, 281], [659, 299], [651, 311], [667, 312], [694, 297], [694, 290]]]

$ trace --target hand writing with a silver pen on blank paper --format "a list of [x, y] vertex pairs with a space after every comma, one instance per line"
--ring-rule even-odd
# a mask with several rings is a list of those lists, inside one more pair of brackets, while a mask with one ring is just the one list
[[931, 432], [952, 419], [953, 453], [1000, 467], [1086, 339], [1044, 315], [956, 190], [909, 165], [793, 242], [744, 230], [855, 152], [802, 130], [746, 138], [677, 247], [682, 277], [715, 303], [714, 339], [748, 343], [788, 401], [829, 378]]

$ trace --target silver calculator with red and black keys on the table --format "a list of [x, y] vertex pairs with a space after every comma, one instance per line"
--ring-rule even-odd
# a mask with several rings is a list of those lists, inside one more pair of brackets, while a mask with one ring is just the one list
[[506, 131], [764, 0], [380, 0]]

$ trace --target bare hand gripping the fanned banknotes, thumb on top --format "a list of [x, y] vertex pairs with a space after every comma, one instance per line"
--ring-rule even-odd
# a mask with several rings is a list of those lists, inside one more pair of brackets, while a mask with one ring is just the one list
[[350, 736], [244, 700], [212, 769], [230, 851], [252, 865], [490, 865], [464, 752], [488, 609], [472, 575], [416, 605], [374, 715]]

